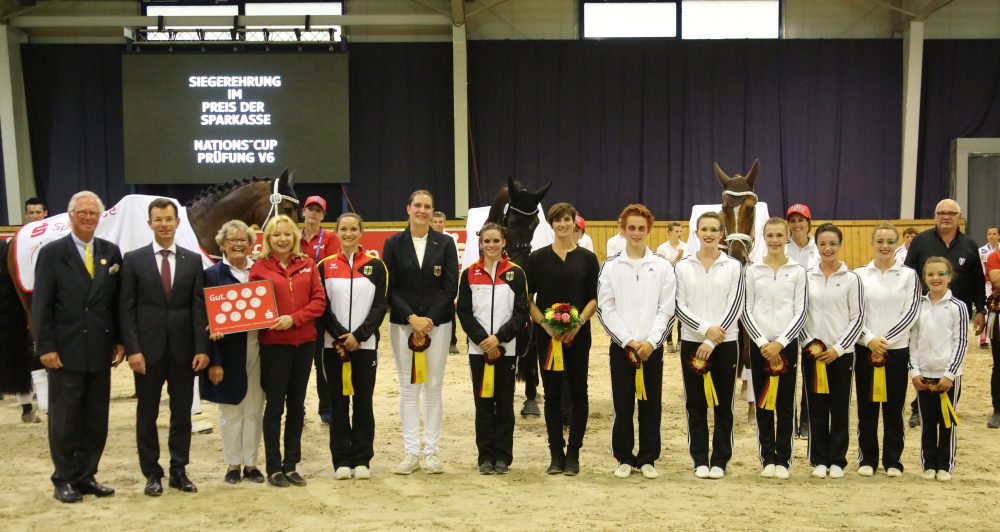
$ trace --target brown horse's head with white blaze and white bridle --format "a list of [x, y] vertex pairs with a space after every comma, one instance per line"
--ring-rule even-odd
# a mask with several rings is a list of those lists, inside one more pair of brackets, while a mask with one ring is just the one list
[[757, 183], [760, 161], [754, 160], [746, 176], [726, 175], [715, 163], [715, 175], [722, 183], [722, 222], [726, 226], [726, 244], [729, 256], [746, 264], [753, 249], [753, 229], [756, 219], [757, 194], [753, 187]]

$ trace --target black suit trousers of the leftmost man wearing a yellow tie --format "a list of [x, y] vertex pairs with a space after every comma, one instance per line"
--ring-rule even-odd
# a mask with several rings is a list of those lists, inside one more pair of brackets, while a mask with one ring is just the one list
[[93, 480], [108, 439], [111, 369], [50, 369], [48, 375], [52, 483]]

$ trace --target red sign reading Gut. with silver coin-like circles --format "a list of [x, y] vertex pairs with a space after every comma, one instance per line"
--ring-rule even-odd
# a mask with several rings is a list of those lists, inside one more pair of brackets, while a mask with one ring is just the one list
[[265, 329], [278, 319], [274, 286], [269, 280], [206, 288], [205, 308], [213, 334]]

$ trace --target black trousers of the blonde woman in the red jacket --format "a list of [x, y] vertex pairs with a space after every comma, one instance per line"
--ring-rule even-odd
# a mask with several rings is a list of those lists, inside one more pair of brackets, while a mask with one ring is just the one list
[[[315, 342], [261, 344], [260, 385], [264, 389], [264, 455], [267, 474], [295, 471], [302, 459], [306, 388]], [[287, 407], [287, 413], [286, 413]], [[285, 414], [285, 454], [281, 455], [281, 415]]]

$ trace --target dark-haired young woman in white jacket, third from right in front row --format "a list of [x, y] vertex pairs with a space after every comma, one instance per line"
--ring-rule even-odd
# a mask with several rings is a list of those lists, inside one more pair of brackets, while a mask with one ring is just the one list
[[[819, 264], [806, 274], [809, 306], [802, 330], [802, 364], [808, 388], [809, 462], [813, 476], [843, 478], [847, 465], [848, 410], [854, 370], [854, 344], [864, 324], [864, 291], [858, 274], [840, 261], [843, 234], [833, 224], [816, 229]], [[808, 354], [812, 340], [820, 340], [826, 350]], [[823, 362], [829, 393], [821, 393], [818, 363]]]

